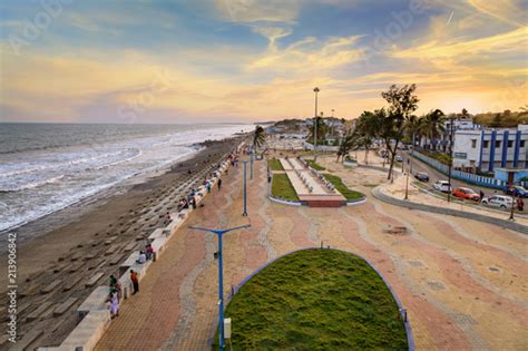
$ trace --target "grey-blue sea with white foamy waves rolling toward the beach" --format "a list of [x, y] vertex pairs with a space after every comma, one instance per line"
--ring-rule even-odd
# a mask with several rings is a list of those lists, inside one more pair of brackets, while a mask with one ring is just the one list
[[0, 124], [0, 232], [193, 157], [252, 125]]

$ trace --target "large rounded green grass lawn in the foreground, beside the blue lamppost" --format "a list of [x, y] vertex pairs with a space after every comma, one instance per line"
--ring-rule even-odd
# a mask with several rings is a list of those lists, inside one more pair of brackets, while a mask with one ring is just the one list
[[[363, 260], [335, 250], [274, 262], [242, 286], [226, 318], [233, 350], [408, 350], [388, 286]], [[217, 342], [216, 334], [214, 350]]]

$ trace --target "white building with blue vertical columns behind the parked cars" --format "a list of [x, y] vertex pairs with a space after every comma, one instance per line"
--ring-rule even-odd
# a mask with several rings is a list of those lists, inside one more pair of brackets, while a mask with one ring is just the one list
[[528, 167], [528, 125], [517, 129], [458, 129], [454, 131], [453, 167], [467, 172], [493, 172], [497, 167]]

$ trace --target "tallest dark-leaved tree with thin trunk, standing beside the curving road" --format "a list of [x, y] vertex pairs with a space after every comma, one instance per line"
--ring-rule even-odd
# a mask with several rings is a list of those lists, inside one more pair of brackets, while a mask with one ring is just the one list
[[407, 121], [413, 111], [418, 109], [420, 101], [414, 95], [417, 86], [404, 85], [399, 88], [392, 85], [389, 90], [383, 91], [381, 96], [389, 103], [387, 110], [384, 108], [374, 113], [379, 124], [379, 136], [383, 139], [387, 149], [390, 153], [390, 166], [388, 179], [392, 176], [394, 167], [394, 157], [398, 152], [398, 145], [404, 136]]

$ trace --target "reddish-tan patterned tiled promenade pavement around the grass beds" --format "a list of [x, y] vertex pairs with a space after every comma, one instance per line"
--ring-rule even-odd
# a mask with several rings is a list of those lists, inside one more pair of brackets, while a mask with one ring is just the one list
[[[365, 194], [384, 177], [326, 163]], [[242, 172], [231, 168], [222, 191], [214, 189], [190, 215], [141, 281], [139, 294], [123, 305], [98, 350], [206, 350], [217, 320], [216, 237], [187, 227], [245, 223], [252, 227], [224, 236], [226, 294], [277, 255], [323, 241], [361, 254], [382, 272], [408, 310], [418, 350], [528, 350], [525, 235], [409, 211], [370, 195], [360, 206], [284, 206], [266, 198], [265, 163], [256, 162], [254, 170], [250, 216], [242, 216]], [[405, 231], [391, 232], [394, 227]]]

